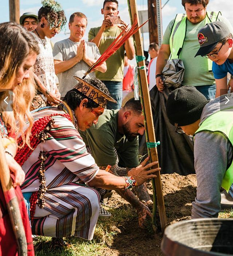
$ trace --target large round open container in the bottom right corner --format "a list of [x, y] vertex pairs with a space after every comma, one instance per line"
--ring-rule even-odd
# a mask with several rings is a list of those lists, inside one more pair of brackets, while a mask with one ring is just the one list
[[165, 229], [161, 249], [166, 256], [233, 255], [233, 219], [179, 221]]

